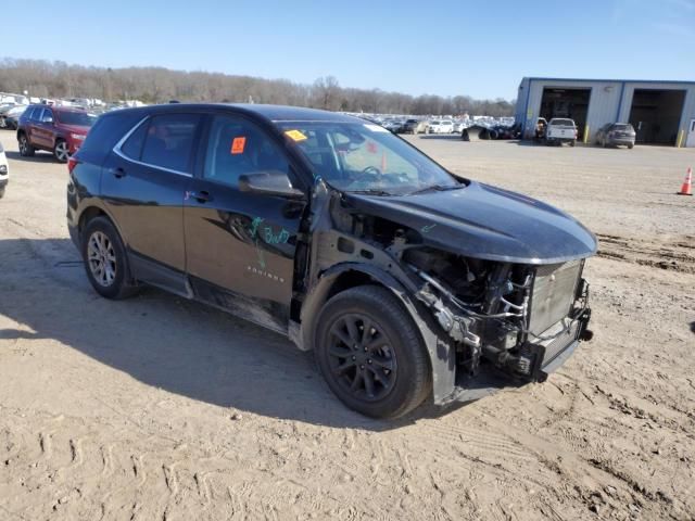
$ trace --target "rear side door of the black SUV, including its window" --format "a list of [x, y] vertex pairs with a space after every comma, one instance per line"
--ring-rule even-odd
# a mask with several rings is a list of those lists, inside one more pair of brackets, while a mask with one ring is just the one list
[[201, 120], [194, 113], [144, 118], [109, 155], [101, 181], [135, 276], [187, 295], [182, 205]]

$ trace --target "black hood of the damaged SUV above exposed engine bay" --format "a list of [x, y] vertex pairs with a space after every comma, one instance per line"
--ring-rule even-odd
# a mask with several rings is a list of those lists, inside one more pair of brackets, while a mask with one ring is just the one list
[[596, 253], [596, 238], [577, 219], [534, 199], [469, 181], [416, 195], [345, 193], [349, 206], [402, 224], [426, 245], [467, 257], [555, 264]]

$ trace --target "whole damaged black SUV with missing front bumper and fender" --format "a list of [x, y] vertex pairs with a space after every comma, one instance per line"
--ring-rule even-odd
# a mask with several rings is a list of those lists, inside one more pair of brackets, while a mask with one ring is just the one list
[[586, 228], [358, 118], [118, 111], [68, 169], [68, 228], [97, 292], [152, 284], [283, 333], [371, 417], [543, 381], [590, 336]]

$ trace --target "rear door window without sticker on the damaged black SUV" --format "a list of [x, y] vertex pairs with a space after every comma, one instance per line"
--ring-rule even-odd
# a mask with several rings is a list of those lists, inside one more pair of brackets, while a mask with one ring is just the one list
[[190, 174], [193, 138], [199, 122], [200, 116], [197, 114], [154, 116], [147, 130], [140, 161]]

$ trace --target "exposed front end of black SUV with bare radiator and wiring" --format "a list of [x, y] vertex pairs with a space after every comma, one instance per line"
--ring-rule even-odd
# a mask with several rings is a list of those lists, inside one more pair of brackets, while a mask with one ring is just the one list
[[582, 260], [525, 266], [429, 249], [403, 255], [424, 284], [416, 296], [457, 343], [457, 364], [476, 374], [481, 359], [516, 377], [541, 369], [580, 333], [587, 313]]

